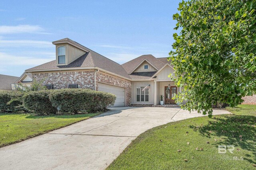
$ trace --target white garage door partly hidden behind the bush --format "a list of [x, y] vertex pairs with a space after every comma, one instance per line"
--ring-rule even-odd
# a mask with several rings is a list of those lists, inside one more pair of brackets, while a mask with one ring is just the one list
[[114, 107], [124, 106], [124, 88], [99, 83], [98, 91], [108, 92], [116, 95], [116, 101], [115, 101]]

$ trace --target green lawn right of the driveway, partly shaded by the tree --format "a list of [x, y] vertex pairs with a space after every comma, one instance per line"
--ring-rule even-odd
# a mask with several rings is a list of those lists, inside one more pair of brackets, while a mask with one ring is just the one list
[[[108, 170], [256, 170], [256, 106], [227, 109], [233, 114], [186, 119], [142, 133]], [[219, 154], [218, 145], [234, 145], [234, 153]]]

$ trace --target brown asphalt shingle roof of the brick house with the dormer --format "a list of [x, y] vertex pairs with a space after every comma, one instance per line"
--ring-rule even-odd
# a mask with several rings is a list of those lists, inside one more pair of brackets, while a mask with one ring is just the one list
[[[160, 70], [166, 63], [169, 63], [166, 58], [156, 58], [153, 55], [142, 55], [136, 59], [133, 59], [131, 61], [128, 61], [127, 63], [124, 63], [122, 65], [96, 53], [95, 51], [92, 51], [88, 49], [87, 47], [84, 47], [83, 45], [72, 41], [71, 39], [64, 38], [60, 39], [58, 41], [69, 41], [70, 43], [73, 43], [81, 48], [83, 48], [85, 51], [88, 51], [88, 53], [85, 53], [72, 63], [64, 66], [57, 66], [56, 60], [50, 61], [48, 63], [41, 64], [39, 66], [35, 66], [33, 68], [29, 68], [26, 70], [26, 72], [29, 72], [30, 70], [44, 70], [44, 69], [58, 69], [58, 68], [74, 68], [74, 67], [98, 67], [101, 69], [104, 69], [106, 71], [112, 72], [114, 74], [118, 74], [120, 76], [134, 79], [134, 80], [145, 80], [150, 79], [151, 76], [153, 76], [153, 72], [147, 72], [147, 73], [132, 73], [132, 70], [134, 70], [136, 67], [139, 66], [139, 64], [144, 61], [145, 59], [150, 62], [154, 67], [156, 67], [158, 70]], [[54, 43], [53, 42], [53, 43]], [[154, 72], [156, 73], [156, 72]]]

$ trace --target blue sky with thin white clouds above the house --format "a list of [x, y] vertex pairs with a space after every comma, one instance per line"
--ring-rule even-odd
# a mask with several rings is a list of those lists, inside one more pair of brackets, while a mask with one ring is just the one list
[[181, 0], [1, 0], [0, 74], [55, 60], [52, 41], [70, 38], [123, 64], [168, 57]]

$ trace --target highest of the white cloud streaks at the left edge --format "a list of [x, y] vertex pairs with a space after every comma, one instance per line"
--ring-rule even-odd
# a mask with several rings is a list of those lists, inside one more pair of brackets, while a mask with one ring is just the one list
[[44, 29], [39, 25], [0, 25], [0, 34], [12, 34], [12, 33], [40, 33], [49, 34], [43, 32]]

